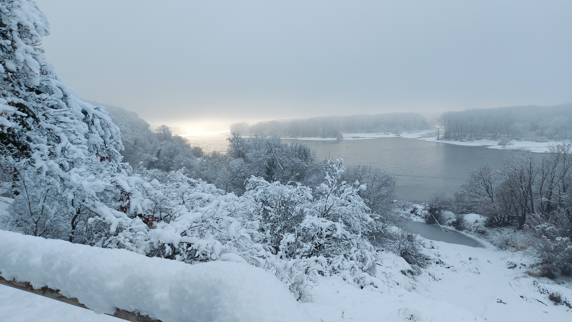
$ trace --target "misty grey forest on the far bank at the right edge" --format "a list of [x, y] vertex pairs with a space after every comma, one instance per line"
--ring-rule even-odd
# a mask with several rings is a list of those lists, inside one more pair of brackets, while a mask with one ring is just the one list
[[530, 138], [546, 141], [572, 138], [572, 104], [445, 112], [439, 121], [445, 128], [445, 140]]

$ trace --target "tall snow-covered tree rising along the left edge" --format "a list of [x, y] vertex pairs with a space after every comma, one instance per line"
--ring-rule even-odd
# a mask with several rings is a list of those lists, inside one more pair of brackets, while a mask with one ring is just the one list
[[120, 162], [120, 130], [45, 61], [39, 46], [49, 29], [35, 3], [2, 1], [0, 18], [0, 162], [11, 176], [3, 193], [15, 199], [6, 225], [71, 240], [88, 217], [115, 216], [104, 204], [120, 193], [114, 177], [129, 170]]

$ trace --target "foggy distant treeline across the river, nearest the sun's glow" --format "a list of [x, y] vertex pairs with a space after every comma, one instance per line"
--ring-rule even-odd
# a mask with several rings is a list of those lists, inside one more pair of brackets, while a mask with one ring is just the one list
[[231, 132], [281, 137], [336, 137], [341, 133], [401, 133], [433, 128], [418, 113], [324, 116], [286, 121], [263, 121], [253, 125], [235, 123]]

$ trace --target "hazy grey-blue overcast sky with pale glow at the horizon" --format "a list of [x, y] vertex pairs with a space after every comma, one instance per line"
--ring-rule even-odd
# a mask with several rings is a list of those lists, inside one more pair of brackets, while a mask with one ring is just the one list
[[152, 124], [572, 102], [570, 0], [37, 3], [63, 82]]

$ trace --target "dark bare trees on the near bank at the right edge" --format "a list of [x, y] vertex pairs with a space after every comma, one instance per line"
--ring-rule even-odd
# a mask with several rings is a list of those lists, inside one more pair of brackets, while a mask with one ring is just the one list
[[[443, 205], [444, 198], [433, 204]], [[533, 239], [531, 255], [550, 272], [572, 273], [572, 144], [550, 153], [507, 157], [495, 172], [483, 165], [452, 202], [488, 217], [488, 226], [515, 226]]]

